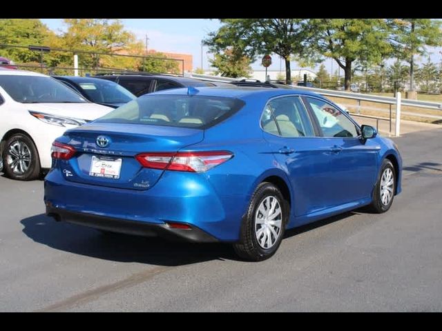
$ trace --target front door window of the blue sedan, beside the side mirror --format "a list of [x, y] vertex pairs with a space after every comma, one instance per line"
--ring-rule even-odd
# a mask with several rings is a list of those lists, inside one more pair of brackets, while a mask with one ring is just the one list
[[338, 108], [326, 101], [309, 98], [307, 102], [318, 120], [324, 137], [358, 137], [358, 130]]

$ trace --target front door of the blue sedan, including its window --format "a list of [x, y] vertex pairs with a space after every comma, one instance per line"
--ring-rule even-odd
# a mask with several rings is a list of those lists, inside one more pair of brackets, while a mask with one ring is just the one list
[[325, 99], [304, 97], [304, 100], [320, 130], [321, 145], [331, 151], [327, 179], [330, 205], [369, 199], [381, 146], [374, 139], [361, 140], [356, 122]]

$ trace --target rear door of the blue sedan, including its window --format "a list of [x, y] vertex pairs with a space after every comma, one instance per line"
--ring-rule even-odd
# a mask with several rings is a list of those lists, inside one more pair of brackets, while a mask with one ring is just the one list
[[294, 192], [294, 217], [323, 210], [330, 205], [330, 151], [312, 125], [300, 97], [276, 97], [267, 103], [261, 117], [264, 138], [278, 167], [289, 174]]

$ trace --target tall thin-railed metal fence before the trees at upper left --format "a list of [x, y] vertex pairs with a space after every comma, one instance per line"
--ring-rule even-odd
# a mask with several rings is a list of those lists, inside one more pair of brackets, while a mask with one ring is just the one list
[[[162, 72], [149, 70], [158, 74], [180, 74], [184, 76], [184, 60], [168, 57], [117, 54], [116, 52], [93, 52], [85, 50], [66, 50], [45, 46], [17, 46], [0, 44], [0, 56], [15, 61], [14, 66], [23, 70], [39, 71], [45, 74], [85, 75], [99, 72], [142, 72], [155, 63], [164, 67]], [[119, 59], [122, 65], [108, 66]], [[125, 63], [126, 62], [126, 63]], [[175, 72], [167, 72], [169, 71]]]

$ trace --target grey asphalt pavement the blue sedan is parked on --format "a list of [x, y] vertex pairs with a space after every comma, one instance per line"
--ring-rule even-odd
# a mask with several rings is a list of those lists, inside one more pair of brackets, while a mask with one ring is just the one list
[[0, 310], [442, 311], [442, 129], [396, 141], [405, 171], [390, 212], [291, 230], [261, 263], [55, 223], [42, 181], [0, 177]]

